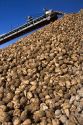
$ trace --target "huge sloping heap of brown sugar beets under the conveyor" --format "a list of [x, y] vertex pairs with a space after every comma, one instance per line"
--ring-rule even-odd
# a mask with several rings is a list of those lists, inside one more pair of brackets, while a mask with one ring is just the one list
[[83, 125], [83, 14], [0, 50], [1, 125]]

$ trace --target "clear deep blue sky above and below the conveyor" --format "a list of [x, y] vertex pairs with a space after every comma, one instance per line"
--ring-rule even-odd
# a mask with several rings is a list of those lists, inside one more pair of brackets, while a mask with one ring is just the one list
[[[0, 0], [0, 34], [24, 24], [29, 15], [41, 15], [43, 8], [66, 13], [78, 12], [83, 8], [83, 0]], [[0, 48], [16, 40], [1, 45]]]

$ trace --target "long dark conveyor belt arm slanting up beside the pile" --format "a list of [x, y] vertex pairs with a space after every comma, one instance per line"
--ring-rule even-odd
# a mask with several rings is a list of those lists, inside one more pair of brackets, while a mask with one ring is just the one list
[[48, 16], [43, 15], [39, 18], [32, 20], [31, 22], [25, 23], [24, 25], [0, 36], [0, 45], [14, 38], [17, 38], [25, 33], [38, 29], [54, 20], [56, 20], [56, 13], [53, 13], [52, 15]]

